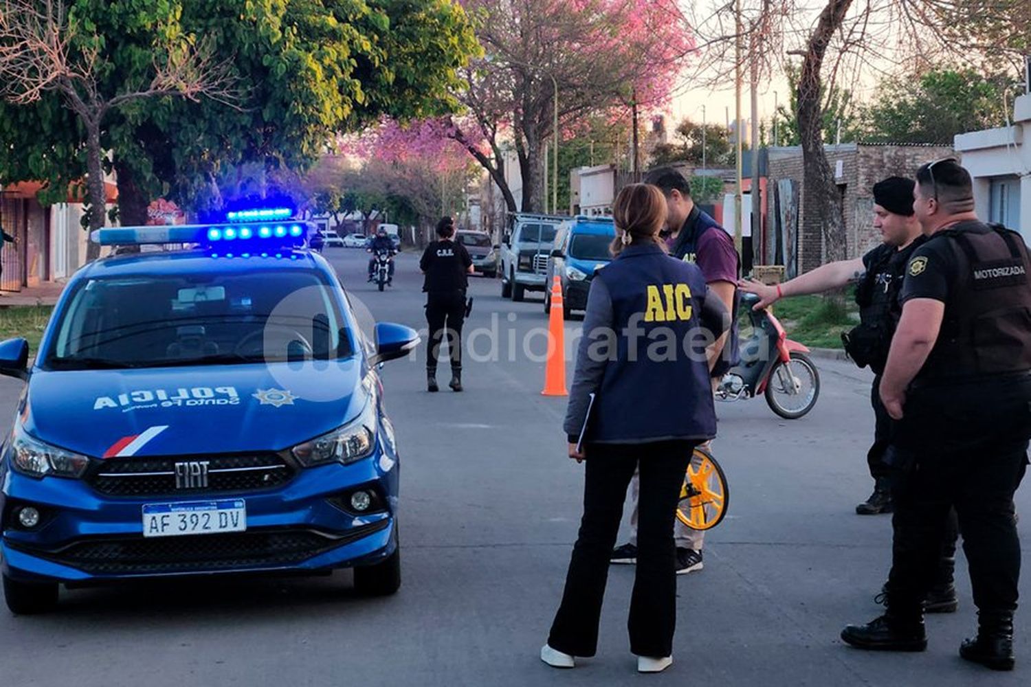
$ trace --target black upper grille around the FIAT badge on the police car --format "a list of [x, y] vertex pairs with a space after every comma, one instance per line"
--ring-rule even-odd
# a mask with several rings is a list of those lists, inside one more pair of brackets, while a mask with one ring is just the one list
[[[175, 463], [204, 460], [207, 486], [176, 488]], [[289, 482], [294, 470], [275, 453], [257, 455], [165, 456], [107, 458], [88, 481], [109, 496], [159, 496], [185, 493], [246, 493]]]

